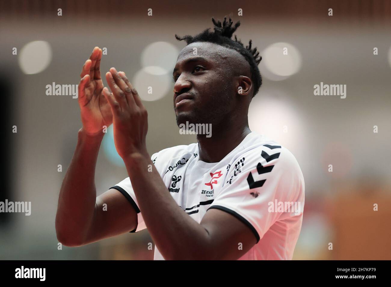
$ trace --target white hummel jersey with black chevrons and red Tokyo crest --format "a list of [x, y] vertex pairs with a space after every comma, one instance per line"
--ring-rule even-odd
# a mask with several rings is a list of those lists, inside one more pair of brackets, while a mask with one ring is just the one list
[[[179, 145], [151, 157], [169, 192], [188, 216], [201, 222], [208, 209], [220, 209], [246, 224], [256, 244], [239, 260], [291, 260], [304, 209], [304, 178], [289, 150], [251, 132], [220, 162], [199, 160], [198, 144]], [[129, 177], [111, 187], [136, 209], [147, 228]], [[154, 260], [164, 260], [155, 246]]]

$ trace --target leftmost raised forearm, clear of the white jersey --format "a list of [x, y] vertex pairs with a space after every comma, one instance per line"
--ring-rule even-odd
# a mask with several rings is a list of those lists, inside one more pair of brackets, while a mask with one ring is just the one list
[[[61, 185], [57, 214], [57, 238], [71, 244], [85, 239], [94, 216], [96, 189], [95, 166], [102, 135], [88, 136], [78, 132], [77, 146]], [[64, 242], [63, 242], [64, 243]]]

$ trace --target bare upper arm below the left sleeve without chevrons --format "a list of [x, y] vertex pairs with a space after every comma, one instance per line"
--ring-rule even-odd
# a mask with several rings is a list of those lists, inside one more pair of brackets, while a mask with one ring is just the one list
[[85, 244], [135, 230], [137, 213], [126, 197], [116, 189], [97, 196], [91, 228]]

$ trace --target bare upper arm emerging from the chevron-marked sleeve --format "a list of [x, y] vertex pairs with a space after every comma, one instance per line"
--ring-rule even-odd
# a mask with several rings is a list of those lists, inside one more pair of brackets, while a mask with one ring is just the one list
[[239, 218], [219, 209], [209, 209], [202, 218], [212, 260], [237, 260], [256, 244], [253, 231]]

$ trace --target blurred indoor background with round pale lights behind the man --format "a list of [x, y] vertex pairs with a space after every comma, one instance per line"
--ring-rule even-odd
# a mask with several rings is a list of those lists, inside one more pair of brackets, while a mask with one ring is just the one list
[[[230, 13], [241, 22], [235, 34], [263, 57], [250, 129], [287, 147], [305, 178], [293, 259], [391, 259], [389, 0], [0, 1], [0, 201], [32, 204], [30, 216], [0, 213], [0, 259], [153, 259], [147, 230], [57, 249], [58, 194], [81, 120], [76, 98], [47, 95], [46, 86], [78, 84], [94, 46], [106, 48], [102, 74], [124, 71], [148, 110], [149, 153], [194, 143], [175, 121], [170, 75], [185, 43], [174, 34], [197, 34]], [[346, 98], [314, 95], [321, 82], [346, 85]], [[109, 128], [97, 193], [127, 176]]]

